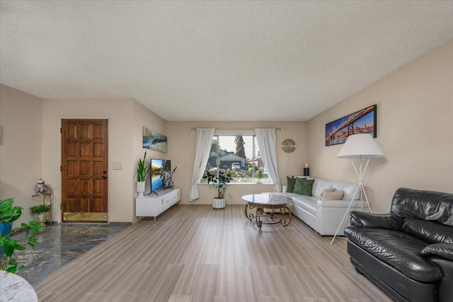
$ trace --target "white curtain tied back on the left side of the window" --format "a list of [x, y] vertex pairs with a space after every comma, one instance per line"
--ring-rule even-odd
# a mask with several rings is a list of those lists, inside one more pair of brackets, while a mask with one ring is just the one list
[[212, 137], [215, 129], [197, 129], [197, 145], [195, 149], [195, 162], [193, 163], [192, 182], [190, 182], [189, 202], [195, 202], [200, 198], [197, 184], [200, 183], [207, 160], [210, 157]]

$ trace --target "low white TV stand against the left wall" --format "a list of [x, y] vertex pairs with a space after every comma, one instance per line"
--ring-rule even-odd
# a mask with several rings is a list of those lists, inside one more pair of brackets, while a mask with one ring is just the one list
[[180, 188], [176, 187], [137, 197], [135, 199], [135, 216], [139, 218], [139, 222], [144, 216], [154, 216], [154, 223], [156, 223], [157, 216], [181, 200], [180, 192]]

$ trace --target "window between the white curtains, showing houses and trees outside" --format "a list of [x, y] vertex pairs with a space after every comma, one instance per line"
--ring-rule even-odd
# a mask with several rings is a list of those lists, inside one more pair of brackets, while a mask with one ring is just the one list
[[251, 134], [214, 135], [206, 170], [230, 172], [231, 183], [273, 184], [263, 165], [256, 137]]

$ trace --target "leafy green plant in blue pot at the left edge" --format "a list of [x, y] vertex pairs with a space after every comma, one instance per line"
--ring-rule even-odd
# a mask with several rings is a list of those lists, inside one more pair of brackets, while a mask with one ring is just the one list
[[[18, 267], [14, 258], [14, 251], [25, 250], [27, 245], [35, 248], [35, 231], [41, 229], [40, 224], [36, 221], [30, 221], [28, 224], [21, 223], [20, 228], [12, 228], [13, 221], [16, 221], [22, 214], [22, 208], [13, 207], [13, 202], [13, 198], [0, 200], [0, 269], [11, 273], [24, 268], [23, 265]], [[19, 240], [11, 239], [14, 233], [21, 230], [25, 231], [23, 238]]]

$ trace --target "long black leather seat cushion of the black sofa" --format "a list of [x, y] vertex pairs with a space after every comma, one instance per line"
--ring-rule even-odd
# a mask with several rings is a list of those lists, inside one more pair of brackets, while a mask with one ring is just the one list
[[345, 236], [413, 280], [435, 282], [442, 278], [440, 268], [420, 254], [428, 243], [408, 233], [349, 226], [345, 228]]

